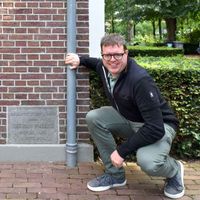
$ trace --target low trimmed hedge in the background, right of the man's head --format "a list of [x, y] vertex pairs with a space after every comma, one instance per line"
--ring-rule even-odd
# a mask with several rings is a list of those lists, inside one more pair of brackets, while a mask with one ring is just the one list
[[176, 56], [183, 55], [184, 50], [171, 47], [128, 46], [129, 56]]

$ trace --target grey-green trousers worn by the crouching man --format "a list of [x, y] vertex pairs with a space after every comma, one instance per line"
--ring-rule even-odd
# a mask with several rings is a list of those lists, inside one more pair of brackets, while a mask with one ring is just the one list
[[[111, 106], [91, 110], [86, 115], [88, 129], [96, 144], [100, 157], [105, 166], [105, 173], [115, 178], [125, 176], [124, 168], [116, 168], [110, 160], [111, 153], [116, 150], [116, 142], [113, 137], [128, 138], [132, 136], [143, 123], [131, 122], [120, 115]], [[137, 164], [150, 176], [173, 177], [178, 170], [177, 161], [169, 156], [175, 131], [164, 124], [165, 135], [154, 144], [141, 147], [136, 152]]]

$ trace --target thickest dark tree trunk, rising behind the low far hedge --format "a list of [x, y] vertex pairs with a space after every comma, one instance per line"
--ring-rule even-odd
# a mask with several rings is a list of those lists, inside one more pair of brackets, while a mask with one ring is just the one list
[[165, 18], [167, 28], [167, 42], [176, 40], [176, 18]]

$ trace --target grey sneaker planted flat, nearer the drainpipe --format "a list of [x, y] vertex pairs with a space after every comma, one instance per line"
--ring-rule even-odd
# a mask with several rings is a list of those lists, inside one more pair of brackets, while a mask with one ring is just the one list
[[126, 185], [126, 179], [116, 179], [109, 174], [103, 174], [87, 183], [88, 189], [94, 192], [101, 192], [113, 187]]

